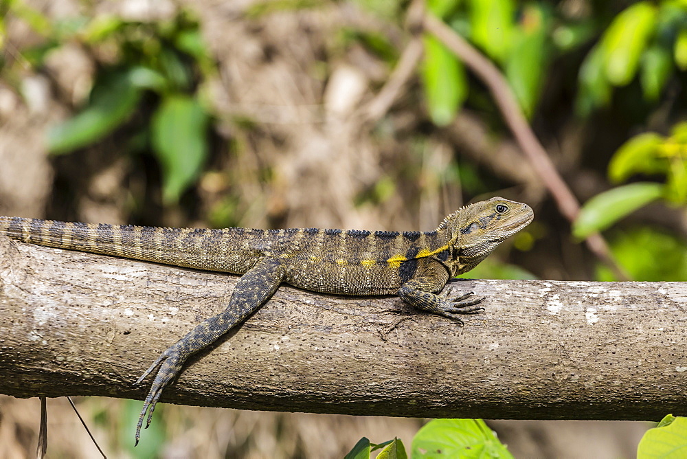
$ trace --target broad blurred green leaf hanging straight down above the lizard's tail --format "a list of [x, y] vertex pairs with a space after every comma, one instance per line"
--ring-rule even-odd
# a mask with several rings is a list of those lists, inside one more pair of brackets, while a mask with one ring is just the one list
[[207, 114], [190, 96], [169, 96], [153, 115], [151, 134], [165, 203], [177, 202], [198, 178], [207, 157], [207, 122]]

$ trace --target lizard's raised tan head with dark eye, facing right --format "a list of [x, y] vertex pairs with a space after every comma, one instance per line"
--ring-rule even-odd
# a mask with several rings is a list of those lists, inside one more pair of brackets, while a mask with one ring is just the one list
[[449, 231], [455, 274], [473, 269], [497, 245], [519, 232], [534, 219], [529, 205], [496, 197], [460, 208], [439, 225]]

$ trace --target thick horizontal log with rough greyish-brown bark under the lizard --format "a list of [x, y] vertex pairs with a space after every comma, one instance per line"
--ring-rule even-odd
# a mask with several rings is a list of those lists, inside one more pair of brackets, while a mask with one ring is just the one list
[[[0, 237], [0, 392], [142, 399], [159, 352], [223, 309], [235, 276]], [[687, 414], [685, 282], [464, 280], [465, 326], [398, 298], [283, 286], [162, 401], [383, 416]], [[403, 319], [390, 333], [384, 332]]]

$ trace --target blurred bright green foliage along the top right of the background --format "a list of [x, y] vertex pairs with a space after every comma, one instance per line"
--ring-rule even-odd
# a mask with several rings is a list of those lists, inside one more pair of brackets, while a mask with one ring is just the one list
[[[503, 69], [528, 117], [537, 107], [553, 60], [584, 49], [595, 36], [599, 41], [587, 52], [578, 76], [576, 107], [585, 117], [609, 104], [613, 87], [628, 85], [638, 74], [644, 98], [657, 102], [675, 71], [687, 69], [684, 0], [639, 1], [617, 16], [592, 14], [576, 20], [543, 1], [434, 0], [428, 8]], [[432, 120], [444, 126], [466, 100], [467, 83], [462, 72], [451, 70], [457, 65], [449, 62], [447, 52], [437, 51], [431, 40], [425, 44], [427, 107]], [[450, 69], [440, 85], [437, 78], [427, 78], [428, 69], [445, 68]]]

